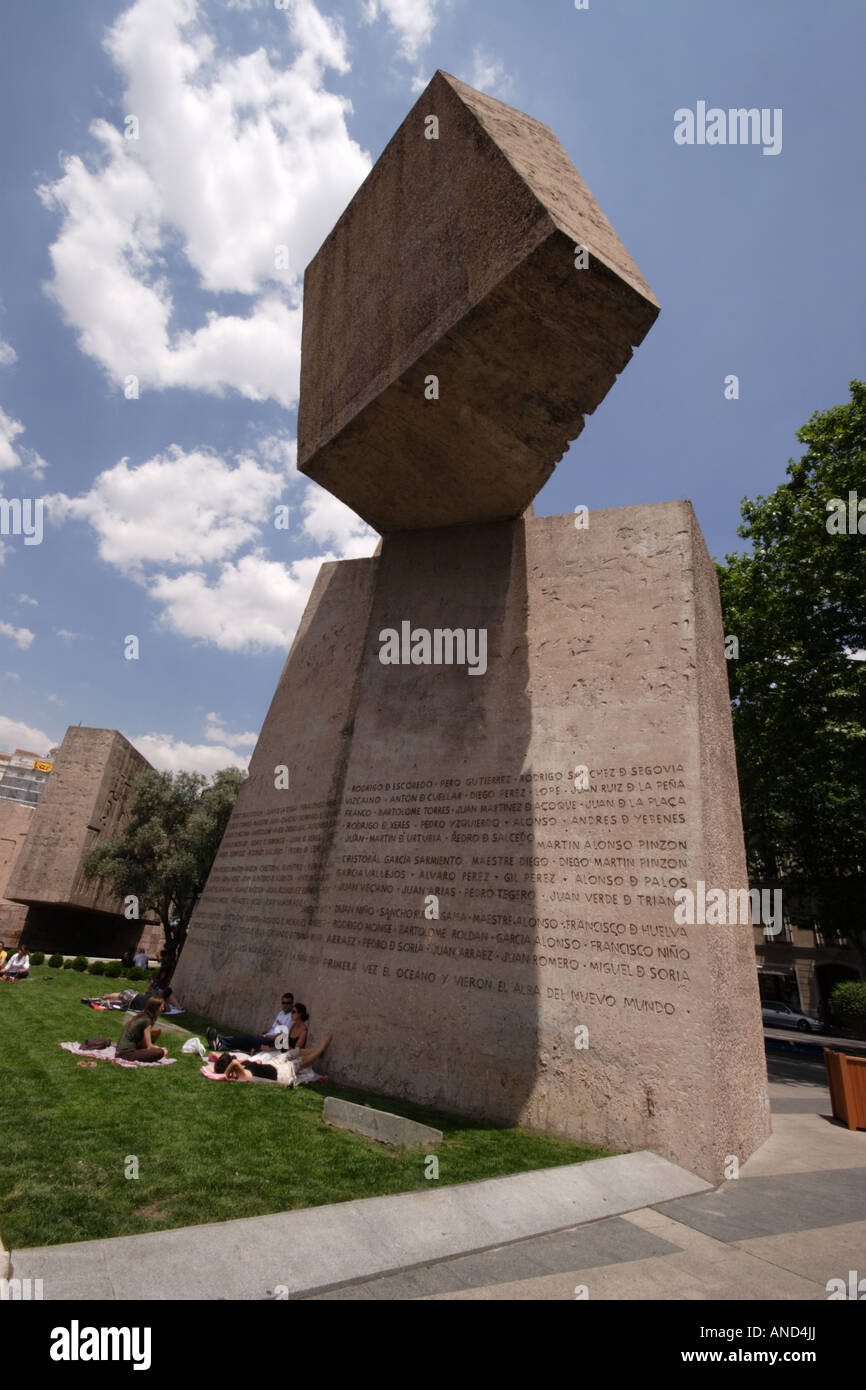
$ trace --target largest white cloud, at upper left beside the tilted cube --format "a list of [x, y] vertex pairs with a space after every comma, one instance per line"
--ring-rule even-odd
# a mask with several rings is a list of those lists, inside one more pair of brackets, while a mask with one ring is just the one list
[[[63, 218], [50, 292], [118, 385], [135, 374], [145, 389], [297, 400], [302, 271], [370, 157], [346, 129], [349, 103], [324, 86], [327, 68], [349, 68], [342, 28], [313, 0], [293, 0], [286, 21], [292, 63], [217, 54], [196, 0], [136, 0], [108, 31], [139, 138], [95, 121], [95, 167], [72, 156], [39, 193]], [[249, 313], [204, 299], [199, 327], [178, 331], [178, 252], [204, 295], [246, 295]]]

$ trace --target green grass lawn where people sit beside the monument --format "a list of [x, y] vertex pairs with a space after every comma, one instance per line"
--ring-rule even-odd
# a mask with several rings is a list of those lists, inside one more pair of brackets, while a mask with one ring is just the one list
[[[79, 1068], [61, 1041], [120, 1037], [124, 1015], [82, 995], [125, 981], [38, 966], [0, 984], [0, 1233], [7, 1248], [129, 1236], [293, 1211], [430, 1186], [424, 1150], [392, 1150], [331, 1129], [325, 1095], [407, 1115], [445, 1131], [439, 1183], [499, 1177], [603, 1156], [528, 1130], [443, 1115], [335, 1086], [206, 1080], [186, 1033], [160, 1038], [174, 1066]], [[174, 1022], [174, 1020], [172, 1020]], [[179, 1015], [181, 1024], [189, 1017]], [[204, 1020], [196, 1020], [200, 1030]], [[327, 1070], [327, 1055], [324, 1058]], [[128, 1179], [129, 1158], [138, 1179]]]

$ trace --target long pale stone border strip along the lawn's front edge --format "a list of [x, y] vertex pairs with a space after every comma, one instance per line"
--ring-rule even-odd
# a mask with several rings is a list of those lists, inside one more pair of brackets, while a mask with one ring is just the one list
[[267, 1298], [278, 1287], [297, 1297], [709, 1190], [644, 1151], [396, 1197], [18, 1250], [13, 1272], [42, 1279], [46, 1300]]

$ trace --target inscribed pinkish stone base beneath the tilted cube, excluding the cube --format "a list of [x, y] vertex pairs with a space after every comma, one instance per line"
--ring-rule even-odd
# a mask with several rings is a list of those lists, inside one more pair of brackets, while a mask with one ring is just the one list
[[[484, 673], [423, 662], [446, 628]], [[388, 535], [322, 566], [175, 987], [243, 1029], [289, 987], [338, 1080], [716, 1182], [769, 1104], [752, 929], [678, 924], [698, 881], [748, 885], [691, 505]]]

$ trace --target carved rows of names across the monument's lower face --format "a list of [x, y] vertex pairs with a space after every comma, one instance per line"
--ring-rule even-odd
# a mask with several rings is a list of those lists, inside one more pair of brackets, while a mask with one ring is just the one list
[[[286, 791], [286, 798], [291, 791]], [[281, 942], [285, 970], [413, 990], [544, 995], [673, 1017], [688, 995], [688, 790], [649, 766], [350, 783], [342, 806], [235, 813], [200, 940]], [[292, 965], [297, 969], [292, 972]]]

